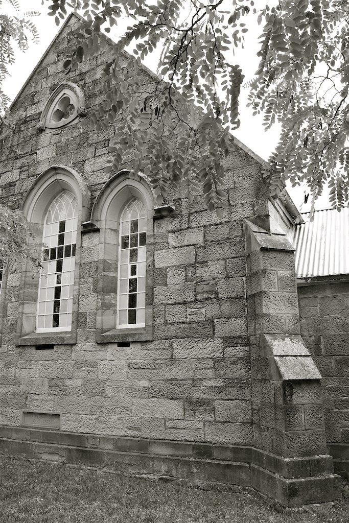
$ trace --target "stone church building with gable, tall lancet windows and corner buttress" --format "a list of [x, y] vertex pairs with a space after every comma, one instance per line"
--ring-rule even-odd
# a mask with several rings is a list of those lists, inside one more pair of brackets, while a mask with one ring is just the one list
[[46, 244], [41, 276], [25, 262], [1, 275], [0, 453], [252, 486], [288, 506], [336, 499], [335, 472], [349, 470], [347, 209], [338, 268], [319, 254], [338, 259], [323, 234], [334, 214], [317, 225], [286, 192], [270, 197], [263, 161], [236, 139], [222, 218], [188, 181], [159, 207], [127, 163], [105, 174], [115, 128], [81, 118], [114, 44], [66, 73], [79, 24], [67, 19], [0, 130], [1, 201]]

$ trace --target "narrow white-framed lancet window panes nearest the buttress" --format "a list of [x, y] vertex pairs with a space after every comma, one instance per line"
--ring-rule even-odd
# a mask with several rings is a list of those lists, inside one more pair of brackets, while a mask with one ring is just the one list
[[137, 198], [120, 219], [117, 327], [145, 326], [147, 210]]

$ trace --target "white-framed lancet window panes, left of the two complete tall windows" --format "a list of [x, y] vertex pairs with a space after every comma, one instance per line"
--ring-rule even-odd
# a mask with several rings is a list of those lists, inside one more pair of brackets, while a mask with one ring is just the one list
[[36, 332], [71, 331], [76, 231], [77, 200], [64, 190], [44, 220]]

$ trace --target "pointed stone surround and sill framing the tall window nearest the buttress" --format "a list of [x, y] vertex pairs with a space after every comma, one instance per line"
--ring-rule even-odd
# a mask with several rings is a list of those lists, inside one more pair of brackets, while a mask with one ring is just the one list
[[[117, 328], [119, 226], [123, 209], [133, 198], [147, 209], [147, 274], [145, 326]], [[91, 222], [99, 228], [99, 261], [96, 290], [96, 341], [142, 341], [153, 338], [153, 215], [154, 195], [140, 175], [123, 171], [112, 177], [102, 188], [91, 213]]]

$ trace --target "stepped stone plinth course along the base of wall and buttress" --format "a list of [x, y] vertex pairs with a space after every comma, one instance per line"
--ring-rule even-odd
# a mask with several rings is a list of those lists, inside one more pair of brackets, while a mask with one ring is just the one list
[[284, 460], [253, 447], [0, 428], [0, 454], [181, 479], [196, 486], [251, 486], [297, 507], [341, 497], [330, 456]]

